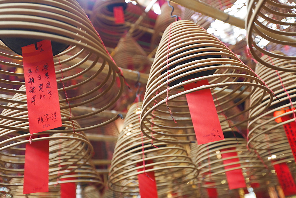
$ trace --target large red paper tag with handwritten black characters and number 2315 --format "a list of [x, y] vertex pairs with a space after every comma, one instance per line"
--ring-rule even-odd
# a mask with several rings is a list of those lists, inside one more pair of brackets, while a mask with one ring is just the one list
[[51, 41], [22, 47], [30, 133], [62, 126]]

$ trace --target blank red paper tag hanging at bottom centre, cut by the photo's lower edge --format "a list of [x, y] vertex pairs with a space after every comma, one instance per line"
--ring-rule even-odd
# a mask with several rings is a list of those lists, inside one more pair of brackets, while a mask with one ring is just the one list
[[[152, 160], [145, 161], [145, 165], [153, 163]], [[137, 166], [142, 166], [143, 162], [138, 162]], [[145, 170], [152, 169], [153, 166], [146, 167]], [[143, 168], [138, 169], [139, 171], [142, 171]], [[147, 177], [146, 174], [149, 176]], [[149, 197], [149, 198], [157, 198], [157, 187], [156, 187], [156, 181], [154, 177], [154, 172], [147, 172], [147, 173], [142, 173], [138, 175], [138, 180], [139, 180], [139, 189], [140, 189], [140, 195], [141, 197]]]

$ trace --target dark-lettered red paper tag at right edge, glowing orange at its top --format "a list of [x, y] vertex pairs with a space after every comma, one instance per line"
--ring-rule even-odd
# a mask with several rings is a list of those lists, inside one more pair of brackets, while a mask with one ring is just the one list
[[[295, 109], [295, 108], [294, 108]], [[275, 111], [274, 116], [279, 116], [280, 114], [284, 114], [285, 112], [291, 111], [291, 109]], [[284, 124], [284, 129], [287, 135], [287, 139], [289, 141], [294, 159], [296, 160], [296, 123], [294, 120], [293, 114], [289, 114], [286, 116], [279, 117], [281, 120], [278, 119], [278, 122], [285, 122], [287, 120], [292, 119], [292, 122], [288, 124]]]

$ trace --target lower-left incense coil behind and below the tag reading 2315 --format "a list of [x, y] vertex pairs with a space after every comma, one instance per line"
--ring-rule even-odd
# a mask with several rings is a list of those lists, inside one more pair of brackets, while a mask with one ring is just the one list
[[[24, 87], [20, 88], [20, 90], [22, 89], [24, 89]], [[23, 94], [15, 94], [12, 100], [24, 101], [26, 100], [26, 96]], [[17, 104], [9, 103], [8, 106], [15, 108], [17, 107]], [[24, 104], [21, 107], [26, 108], [27, 105]], [[0, 185], [8, 185], [11, 178], [23, 178], [25, 144], [29, 142], [28, 138], [30, 137], [30, 134], [26, 131], [29, 125], [28, 121], [26, 121], [26, 119], [28, 119], [28, 112], [19, 111], [17, 109], [4, 109], [1, 115], [3, 117], [16, 118], [16, 120], [0, 120], [1, 125], [6, 126], [5, 128], [0, 128], [0, 170], [2, 173], [1, 178], [4, 178]], [[61, 115], [62, 117], [69, 117], [70, 112], [65, 109], [61, 111]], [[75, 129], [73, 129], [73, 127]], [[57, 178], [66, 175], [68, 173], [66, 169], [71, 169], [71, 171], [81, 170], [82, 173], [88, 172], [89, 178], [91, 178], [94, 183], [102, 183], [98, 175], [90, 175], [88, 168], [90, 166], [88, 161], [93, 153], [93, 147], [86, 138], [84, 132], [81, 132], [80, 134], [73, 133], [76, 129], [80, 129], [79, 124], [75, 120], [73, 122], [68, 120], [62, 122], [62, 127], [59, 129], [39, 133], [41, 135], [54, 133], [53, 135], [49, 137], [33, 138], [32, 141], [50, 140], [49, 182], [53, 182], [54, 180], [57, 180]], [[71, 132], [66, 134], [61, 133], [67, 131]], [[15, 175], [16, 173], [19, 175]], [[80, 175], [79, 177], [83, 178], [83, 175]], [[97, 179], [94, 179], [96, 177]]]

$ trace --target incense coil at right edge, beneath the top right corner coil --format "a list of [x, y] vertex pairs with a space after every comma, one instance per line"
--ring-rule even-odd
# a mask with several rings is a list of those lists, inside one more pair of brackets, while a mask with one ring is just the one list
[[[282, 54], [279, 51], [273, 51], [273, 53]], [[290, 66], [295, 62], [293, 60], [287, 61], [278, 58], [271, 58], [268, 55], [264, 55], [262, 58], [266, 63], [272, 63], [281, 68], [290, 68]], [[267, 110], [259, 108], [257, 112], [253, 111], [250, 114], [250, 116], [252, 116], [253, 114], [260, 112], [259, 116], [250, 121], [248, 145], [255, 149], [279, 149], [279, 147], [281, 147], [281, 143], [287, 143], [287, 137], [284, 135], [284, 124], [294, 122], [290, 99], [293, 106], [295, 106], [295, 73], [288, 73], [284, 71], [277, 72], [274, 69], [265, 68], [261, 64], [256, 66], [256, 72], [266, 85], [273, 90], [278, 99], [274, 97], [271, 106]], [[255, 91], [251, 96], [251, 101], [256, 100], [255, 97], [260, 94], [262, 94], [261, 91]], [[266, 100], [268, 99], [265, 97], [262, 104], [266, 104]], [[276, 113], [280, 111], [283, 111], [283, 114], [276, 115]], [[288, 120], [282, 122], [281, 118], [287, 116], [289, 116]]]

